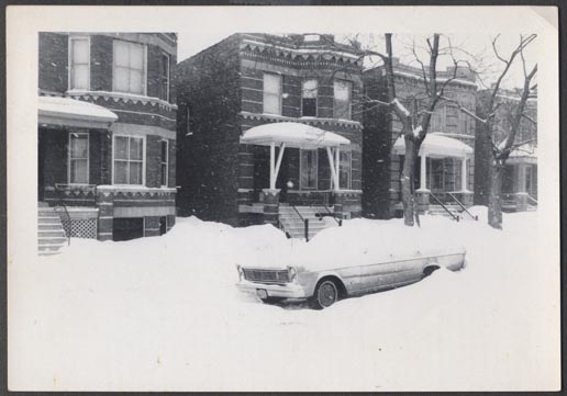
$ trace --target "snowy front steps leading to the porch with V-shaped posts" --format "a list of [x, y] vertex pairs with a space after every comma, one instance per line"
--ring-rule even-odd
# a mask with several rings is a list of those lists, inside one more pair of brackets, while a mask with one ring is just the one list
[[329, 213], [324, 206], [279, 206], [279, 223], [291, 238], [305, 239], [305, 222], [309, 219], [308, 237], [313, 238], [319, 231], [329, 227], [319, 213]]

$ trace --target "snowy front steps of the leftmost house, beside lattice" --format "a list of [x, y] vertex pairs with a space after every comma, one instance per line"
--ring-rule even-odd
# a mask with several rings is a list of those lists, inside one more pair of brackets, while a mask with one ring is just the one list
[[37, 208], [37, 251], [42, 256], [55, 254], [67, 245], [67, 236], [55, 208], [40, 205]]

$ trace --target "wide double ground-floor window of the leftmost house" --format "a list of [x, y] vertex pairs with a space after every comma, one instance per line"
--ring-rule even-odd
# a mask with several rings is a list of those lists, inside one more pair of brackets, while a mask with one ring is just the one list
[[144, 184], [144, 139], [114, 137], [114, 184]]

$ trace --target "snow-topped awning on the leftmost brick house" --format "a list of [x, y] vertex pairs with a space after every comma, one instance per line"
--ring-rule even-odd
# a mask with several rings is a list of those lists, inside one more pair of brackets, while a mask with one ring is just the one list
[[118, 115], [98, 104], [70, 98], [38, 97], [38, 123], [58, 126], [108, 128]]

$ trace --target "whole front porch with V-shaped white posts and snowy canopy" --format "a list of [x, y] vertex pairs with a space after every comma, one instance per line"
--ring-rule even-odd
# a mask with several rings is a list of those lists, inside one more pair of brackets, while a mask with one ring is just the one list
[[249, 180], [238, 189], [241, 218], [255, 215], [258, 222], [289, 228], [288, 223], [308, 219], [302, 213], [337, 219], [359, 213], [360, 191], [353, 189], [349, 139], [282, 122], [249, 128], [241, 144], [251, 147], [241, 168]]

